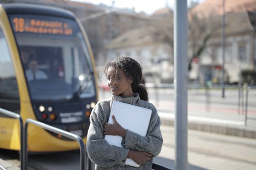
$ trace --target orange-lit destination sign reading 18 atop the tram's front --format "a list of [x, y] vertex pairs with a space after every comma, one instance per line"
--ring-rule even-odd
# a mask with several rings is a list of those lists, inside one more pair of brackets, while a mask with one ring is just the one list
[[73, 35], [72, 20], [58, 17], [12, 16], [12, 29], [15, 33], [34, 33], [51, 35]]

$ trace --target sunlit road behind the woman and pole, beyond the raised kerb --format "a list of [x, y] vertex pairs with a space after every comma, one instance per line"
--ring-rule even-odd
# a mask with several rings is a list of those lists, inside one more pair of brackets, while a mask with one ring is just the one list
[[[153, 103], [159, 113], [175, 114], [175, 91], [174, 89], [148, 88], [149, 101]], [[187, 93], [188, 116], [231, 120], [244, 126], [246, 100], [244, 91], [240, 99], [236, 89], [226, 89], [225, 98], [221, 97], [221, 89], [211, 89], [209, 95], [205, 95], [204, 89], [190, 89]], [[100, 91], [100, 99], [109, 98], [111, 93]], [[242, 100], [243, 99], [243, 100]], [[183, 103], [179, 104], [182, 107]], [[240, 109], [240, 110], [238, 110]], [[247, 99], [247, 128], [256, 130], [256, 89], [248, 91]]]

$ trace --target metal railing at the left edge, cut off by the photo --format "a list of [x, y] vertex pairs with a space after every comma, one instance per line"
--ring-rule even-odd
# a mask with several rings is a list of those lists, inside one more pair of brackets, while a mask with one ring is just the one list
[[[10, 117], [16, 118], [19, 120], [19, 130], [20, 130], [20, 154], [19, 154], [19, 160], [20, 164], [24, 164], [24, 148], [23, 148], [23, 142], [24, 142], [24, 134], [23, 134], [23, 119], [19, 114], [13, 113], [11, 111], [5, 110], [3, 108], [0, 108], [0, 112], [8, 115]], [[25, 170], [22, 166], [20, 166], [22, 170]]]

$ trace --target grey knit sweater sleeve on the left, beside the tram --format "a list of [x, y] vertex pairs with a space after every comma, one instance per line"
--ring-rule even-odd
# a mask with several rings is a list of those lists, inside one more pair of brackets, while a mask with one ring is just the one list
[[[109, 111], [97, 104], [90, 116], [90, 127], [87, 135], [87, 152], [92, 162], [102, 167], [110, 167], [115, 164], [124, 166], [125, 159], [129, 153], [127, 148], [119, 148], [110, 145], [104, 139], [103, 112]], [[106, 113], [105, 113], [106, 114]]]

